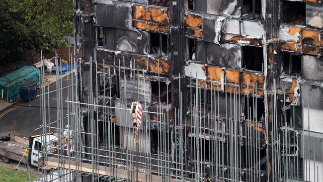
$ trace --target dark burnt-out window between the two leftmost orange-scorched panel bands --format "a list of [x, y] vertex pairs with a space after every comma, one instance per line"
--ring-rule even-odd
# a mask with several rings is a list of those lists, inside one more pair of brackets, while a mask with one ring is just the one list
[[150, 32], [150, 53], [159, 56], [167, 56], [168, 35]]

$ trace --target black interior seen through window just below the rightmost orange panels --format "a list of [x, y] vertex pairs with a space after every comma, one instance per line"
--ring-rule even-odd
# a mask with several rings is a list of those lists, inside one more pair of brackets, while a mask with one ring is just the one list
[[283, 52], [282, 54], [283, 73], [285, 75], [300, 75], [302, 69], [302, 57], [297, 54]]

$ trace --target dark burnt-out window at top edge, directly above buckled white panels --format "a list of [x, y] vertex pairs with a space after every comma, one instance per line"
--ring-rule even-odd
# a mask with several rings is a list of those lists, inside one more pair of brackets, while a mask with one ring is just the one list
[[242, 16], [249, 19], [261, 18], [261, 0], [242, 0]]

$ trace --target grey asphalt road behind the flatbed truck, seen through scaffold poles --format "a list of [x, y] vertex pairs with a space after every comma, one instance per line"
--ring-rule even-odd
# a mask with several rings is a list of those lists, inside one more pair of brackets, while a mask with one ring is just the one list
[[[67, 78], [63, 79], [63, 88], [68, 86]], [[46, 116], [47, 116], [47, 123], [48, 123], [48, 109], [49, 109], [49, 116], [50, 121], [57, 120], [57, 96], [56, 96], [56, 83], [49, 86], [49, 90], [53, 91], [49, 94], [49, 107], [48, 107], [48, 95], [46, 94]], [[46, 87], [47, 92], [47, 87]], [[68, 96], [68, 89], [63, 89], [63, 115], [66, 116], [67, 114], [67, 96]], [[39, 94], [39, 93], [38, 93]], [[41, 104], [40, 104], [40, 97], [32, 101], [20, 101], [19, 103], [15, 104], [12, 108], [16, 107], [15, 109], [11, 109], [6, 114], [0, 114], [0, 136], [5, 136], [10, 132], [13, 135], [21, 136], [21, 137], [28, 137], [30, 135], [38, 135], [41, 134], [42, 130], [37, 128], [41, 125]], [[57, 123], [52, 124], [51, 126], [57, 127]], [[51, 131], [54, 131], [51, 129]]]

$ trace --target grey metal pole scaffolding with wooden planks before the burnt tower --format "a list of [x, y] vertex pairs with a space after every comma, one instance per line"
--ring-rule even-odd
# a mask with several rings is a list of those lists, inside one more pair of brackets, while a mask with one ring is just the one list
[[[59, 65], [58, 60], [55, 60]], [[119, 63], [122, 63], [119, 60]], [[75, 64], [75, 61], [70, 61]], [[94, 67], [94, 75], [100, 76], [108, 81], [107, 85], [111, 88], [112, 70], [99, 70], [95, 62], [90, 68]], [[180, 115], [182, 106], [174, 108], [175, 120], [169, 119], [170, 108], [157, 103], [156, 111], [149, 111], [147, 103], [143, 102], [143, 118], [146, 121], [139, 129], [140, 150], [135, 150], [134, 136], [135, 128], [131, 126], [129, 101], [125, 97], [120, 98], [121, 106], [112, 105], [113, 97], [111, 90], [104, 93], [107, 95], [101, 98], [101, 102], [96, 97], [87, 98], [87, 103], [82, 103], [78, 99], [78, 68], [76, 72], [70, 71], [68, 87], [62, 86], [62, 75], [57, 74], [57, 119], [49, 118], [49, 91], [45, 88], [45, 83], [41, 82], [41, 117], [42, 133], [55, 132], [58, 136], [58, 145], [44, 152], [43, 164], [51, 168], [40, 168], [40, 181], [54, 179], [53, 174], [63, 176], [57, 178], [61, 181], [185, 181], [185, 182], [205, 182], [205, 181], [276, 181], [279, 179], [303, 180], [303, 166], [311, 168], [309, 161], [310, 155], [315, 157], [321, 155], [313, 154], [307, 150], [303, 156], [299, 156], [299, 150], [304, 151], [304, 147], [315, 147], [315, 141], [309, 140], [310, 133], [299, 131], [295, 128], [295, 113], [292, 122], [284, 118], [283, 125], [279, 126], [277, 118], [277, 107], [271, 108], [271, 120], [264, 122], [263, 115], [257, 115], [256, 88], [252, 88], [251, 95], [247, 94], [248, 113], [241, 114], [241, 88], [235, 87], [233, 93], [225, 92], [225, 105], [221, 105], [220, 85], [214, 85], [210, 91], [199, 87], [198, 79], [189, 80], [187, 88], [189, 90], [189, 109], [186, 119]], [[105, 68], [105, 67], [103, 67]], [[90, 69], [92, 70], [92, 69]], [[145, 83], [145, 72], [133, 74], [135, 79], [142, 78]], [[120, 80], [126, 79], [125, 67], [118, 67], [117, 76]], [[41, 71], [41, 78], [44, 78], [44, 70]], [[92, 74], [90, 74], [92, 75]], [[193, 75], [193, 73], [192, 73]], [[76, 78], [76, 79], [75, 79]], [[96, 77], [88, 78], [89, 81], [99, 79]], [[126, 83], [126, 82], [124, 82]], [[179, 83], [180, 84], [180, 83]], [[97, 83], [96, 83], [97, 85]], [[104, 85], [105, 87], [105, 85]], [[121, 87], [121, 86], [120, 86]], [[126, 85], [124, 86], [127, 87]], [[145, 86], [144, 86], [145, 87]], [[91, 87], [92, 88], [92, 87]], [[63, 97], [63, 89], [68, 90], [67, 97]], [[119, 88], [121, 90], [121, 88]], [[135, 88], [139, 93], [139, 87]], [[104, 91], [106, 89], [104, 88]], [[124, 95], [127, 94], [124, 90]], [[277, 97], [274, 88], [271, 100]], [[90, 91], [93, 95], [98, 90]], [[167, 87], [168, 93], [168, 87]], [[248, 91], [249, 93], [249, 91]], [[253, 94], [252, 94], [253, 93]], [[139, 100], [139, 95], [135, 99]], [[144, 96], [146, 94], [144, 93]], [[168, 100], [168, 95], [166, 95]], [[146, 98], [144, 97], [146, 100]], [[172, 98], [176, 99], [176, 98]], [[180, 103], [183, 97], [177, 98]], [[250, 103], [249, 103], [250, 101]], [[64, 102], [67, 103], [68, 112], [64, 113]], [[122, 104], [123, 103], [123, 104]], [[273, 105], [276, 105], [274, 102]], [[284, 102], [284, 107], [286, 106]], [[207, 108], [210, 107], [210, 108]], [[221, 107], [226, 109], [226, 116], [220, 116]], [[126, 127], [119, 128], [119, 135], [116, 135], [116, 124], [114, 113], [119, 110], [120, 118], [125, 119]], [[86, 126], [90, 127], [90, 132], [85, 132], [82, 126], [82, 114], [89, 118]], [[156, 115], [157, 119], [152, 121], [148, 118]], [[286, 114], [285, 114], [286, 115]], [[310, 115], [308, 115], [310, 117]], [[53, 121], [55, 120], [55, 121]], [[152, 123], [156, 124], [154, 130], [157, 131], [157, 149], [150, 149], [152, 136]], [[72, 140], [75, 149], [64, 145], [63, 132], [67, 130], [66, 124], [71, 127]], [[310, 125], [310, 124], [309, 124]], [[101, 130], [99, 128], [102, 128]], [[99, 139], [100, 132], [103, 139]], [[269, 134], [270, 133], [270, 134]], [[122, 134], [122, 136], [121, 136]], [[117, 138], [120, 136], [120, 138]], [[125, 139], [126, 138], [126, 139]], [[84, 140], [89, 142], [85, 144]], [[117, 144], [116, 140], [125, 141], [123, 146]], [[298, 143], [301, 142], [302, 149]], [[52, 150], [53, 149], [53, 150]], [[315, 149], [315, 148], [313, 148]], [[70, 153], [70, 155], [68, 155]], [[137, 165], [138, 163], [138, 165]], [[301, 163], [301, 164], [300, 164]], [[307, 166], [308, 165], [308, 166]], [[319, 165], [312, 167], [315, 169], [312, 178], [319, 182]], [[321, 168], [321, 166], [320, 166]], [[49, 170], [48, 170], [49, 169]], [[307, 171], [306, 171], [307, 172]], [[312, 172], [312, 171], [310, 171]], [[55, 176], [55, 175], [54, 175]], [[88, 178], [89, 177], [89, 178]], [[309, 175], [311, 178], [311, 175]], [[304, 179], [309, 180], [309, 179]]]

